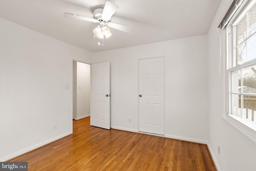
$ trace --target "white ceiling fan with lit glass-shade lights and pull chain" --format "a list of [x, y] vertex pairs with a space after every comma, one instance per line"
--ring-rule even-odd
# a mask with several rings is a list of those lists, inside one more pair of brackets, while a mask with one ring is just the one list
[[[100, 23], [99, 26], [93, 30], [94, 38], [104, 39], [104, 36], [106, 38], [112, 36], [110, 30], [106, 27], [106, 25], [111, 28], [115, 28], [117, 30], [121, 30], [123, 32], [131, 34], [132, 28], [111, 22], [111, 17], [117, 9], [118, 6], [116, 4], [106, 1], [104, 8], [97, 8], [96, 10], [94, 10], [93, 18], [88, 18], [70, 13], [64, 13], [64, 16], [68, 18], [75, 18], [78, 20]], [[100, 46], [99, 43], [98, 46]]]

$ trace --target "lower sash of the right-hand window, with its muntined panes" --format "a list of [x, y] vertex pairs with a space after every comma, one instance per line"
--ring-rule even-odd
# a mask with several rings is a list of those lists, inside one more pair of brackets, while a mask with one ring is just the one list
[[256, 126], [256, 65], [230, 72], [230, 114]]

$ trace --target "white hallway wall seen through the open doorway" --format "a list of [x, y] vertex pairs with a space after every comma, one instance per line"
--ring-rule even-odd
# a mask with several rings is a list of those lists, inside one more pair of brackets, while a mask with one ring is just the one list
[[76, 62], [76, 117], [82, 119], [90, 116], [90, 65]]

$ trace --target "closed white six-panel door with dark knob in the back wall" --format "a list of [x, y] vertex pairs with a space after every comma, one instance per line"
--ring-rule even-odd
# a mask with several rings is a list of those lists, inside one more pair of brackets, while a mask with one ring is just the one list
[[164, 135], [164, 57], [139, 60], [139, 131]]

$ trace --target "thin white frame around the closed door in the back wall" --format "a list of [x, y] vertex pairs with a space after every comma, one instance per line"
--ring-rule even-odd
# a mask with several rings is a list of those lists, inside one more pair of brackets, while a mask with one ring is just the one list
[[[155, 133], [148, 133], [148, 132], [143, 132], [143, 131], [140, 131], [140, 98], [139, 98], [139, 93], [140, 93], [140, 60], [147, 60], [147, 59], [152, 59], [152, 58], [164, 58], [164, 135], [162, 134], [155, 134]], [[154, 135], [154, 136], [158, 136], [158, 137], [166, 137], [165, 135], [165, 128], [166, 128], [166, 113], [165, 113], [165, 102], [166, 102], [166, 99], [165, 99], [165, 92], [166, 92], [166, 89], [165, 89], [165, 56], [154, 56], [154, 57], [148, 57], [148, 58], [138, 58], [138, 93], [137, 93], [137, 98], [138, 98], [138, 133], [143, 133], [143, 134], [148, 134], [148, 135]]]

